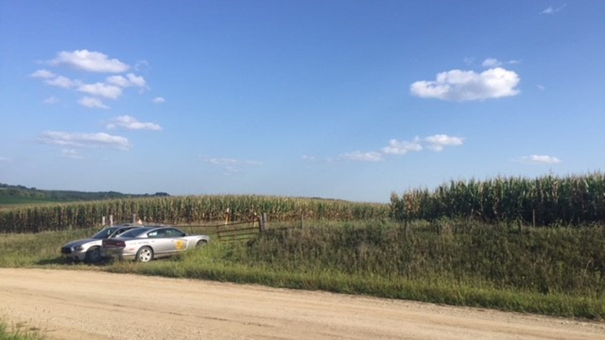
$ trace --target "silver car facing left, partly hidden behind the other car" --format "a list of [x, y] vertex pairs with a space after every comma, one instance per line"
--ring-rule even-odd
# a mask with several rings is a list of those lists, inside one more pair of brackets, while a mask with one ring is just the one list
[[73, 261], [85, 261], [87, 263], [99, 262], [102, 258], [100, 253], [103, 238], [117, 237], [123, 232], [136, 228], [135, 224], [123, 223], [115, 226], [106, 227], [99, 230], [91, 238], [71, 241], [61, 247], [63, 258]]

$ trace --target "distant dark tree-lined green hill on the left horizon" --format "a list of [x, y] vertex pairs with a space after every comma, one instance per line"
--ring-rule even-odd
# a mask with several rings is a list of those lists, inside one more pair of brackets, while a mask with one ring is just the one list
[[0, 205], [44, 203], [44, 202], [71, 202], [71, 201], [94, 201], [107, 200], [110, 198], [134, 198], [134, 197], [166, 197], [166, 192], [155, 194], [122, 194], [116, 191], [66, 191], [66, 190], [41, 190], [27, 188], [22, 185], [8, 185], [0, 183]]

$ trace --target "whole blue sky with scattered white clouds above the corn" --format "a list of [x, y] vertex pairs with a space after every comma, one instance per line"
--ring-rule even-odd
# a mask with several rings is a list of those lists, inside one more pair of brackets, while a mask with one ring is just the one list
[[0, 0], [0, 182], [388, 201], [605, 168], [603, 1]]

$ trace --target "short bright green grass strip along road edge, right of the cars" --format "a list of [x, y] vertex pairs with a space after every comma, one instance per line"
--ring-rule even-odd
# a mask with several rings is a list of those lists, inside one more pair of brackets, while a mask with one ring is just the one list
[[[482, 307], [511, 312], [535, 313], [567, 318], [603, 320], [605, 298], [564, 293], [539, 293], [520, 289], [494, 287], [485, 280], [456, 281], [446, 275], [405, 278], [371, 273], [347, 273], [341, 269], [298, 269], [267, 264], [237, 263], [231, 258], [234, 244], [208, 244], [200, 250], [164, 261], [139, 264], [118, 261], [105, 270], [115, 273], [168, 276], [262, 284], [270, 287], [324, 290], [327, 292], [368, 295], [381, 298]], [[237, 251], [237, 250], [236, 250]], [[226, 258], [231, 258], [227, 260]]]

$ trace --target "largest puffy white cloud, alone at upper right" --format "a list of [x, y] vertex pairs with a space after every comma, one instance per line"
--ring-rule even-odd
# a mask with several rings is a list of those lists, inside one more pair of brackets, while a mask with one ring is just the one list
[[436, 80], [420, 80], [410, 85], [414, 96], [442, 100], [483, 100], [515, 96], [520, 78], [514, 71], [490, 68], [482, 73], [451, 70], [437, 74]]

